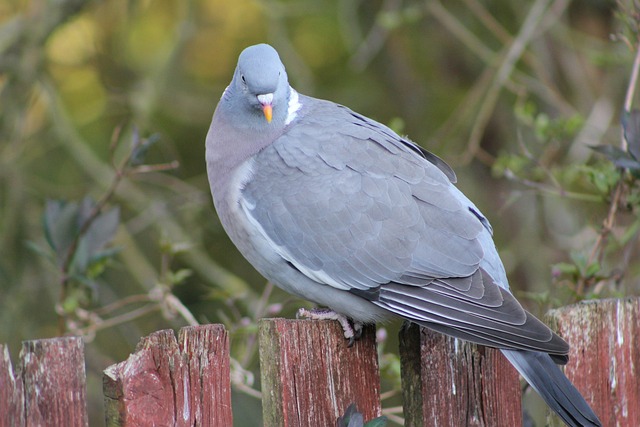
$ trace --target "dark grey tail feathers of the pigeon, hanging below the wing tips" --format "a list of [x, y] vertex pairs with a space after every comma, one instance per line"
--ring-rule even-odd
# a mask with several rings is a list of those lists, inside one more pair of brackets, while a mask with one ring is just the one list
[[580, 392], [546, 353], [501, 349], [520, 375], [569, 426], [602, 426]]

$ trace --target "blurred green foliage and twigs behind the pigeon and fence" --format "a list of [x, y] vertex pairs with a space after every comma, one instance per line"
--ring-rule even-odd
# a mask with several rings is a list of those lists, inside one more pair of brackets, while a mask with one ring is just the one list
[[[102, 370], [140, 337], [224, 323], [235, 424], [261, 424], [256, 319], [307, 303], [232, 247], [204, 164], [237, 56], [259, 42], [299, 92], [450, 163], [532, 312], [637, 294], [637, 169], [614, 160], [638, 160], [620, 126], [638, 16], [606, 0], [3, 0], [0, 342], [15, 363], [23, 340], [85, 335], [101, 425]], [[380, 333], [388, 408], [398, 326]]]

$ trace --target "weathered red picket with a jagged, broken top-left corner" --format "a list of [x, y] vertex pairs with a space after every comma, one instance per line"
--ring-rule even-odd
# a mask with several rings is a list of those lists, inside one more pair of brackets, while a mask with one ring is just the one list
[[229, 374], [222, 325], [154, 332], [105, 370], [107, 425], [231, 426]]

